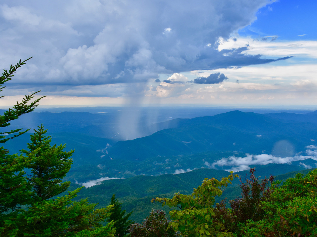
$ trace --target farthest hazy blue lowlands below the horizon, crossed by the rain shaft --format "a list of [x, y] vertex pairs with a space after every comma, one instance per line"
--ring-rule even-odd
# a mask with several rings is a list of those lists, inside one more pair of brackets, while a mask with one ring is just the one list
[[[35, 111], [41, 110], [36, 108]], [[49, 132], [77, 132], [116, 140], [134, 139], [159, 131], [158, 122], [173, 118], [194, 118], [230, 111], [207, 107], [85, 107], [51, 108], [24, 114], [12, 121], [12, 128], [36, 128], [43, 125]], [[5, 110], [0, 110], [0, 114]]]

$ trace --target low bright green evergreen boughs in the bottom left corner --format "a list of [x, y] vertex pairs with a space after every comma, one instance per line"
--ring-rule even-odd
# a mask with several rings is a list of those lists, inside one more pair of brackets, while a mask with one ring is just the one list
[[[28, 210], [21, 210], [14, 218], [4, 221], [2, 236], [94, 236], [98, 230], [105, 236], [113, 236], [113, 223], [103, 227], [99, 223], [110, 215], [111, 206], [94, 210], [95, 204], [87, 199], [74, 202], [80, 189], [56, 199], [35, 202]], [[92, 232], [89, 234], [89, 232]], [[45, 233], [45, 234], [44, 234]], [[10, 236], [11, 236], [10, 235]]]

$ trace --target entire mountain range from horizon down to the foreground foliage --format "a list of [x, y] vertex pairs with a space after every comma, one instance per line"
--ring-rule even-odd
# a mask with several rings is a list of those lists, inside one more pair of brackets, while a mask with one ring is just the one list
[[[228, 170], [235, 170], [243, 180], [255, 167], [260, 179], [274, 175], [285, 180], [317, 167], [317, 111], [230, 111], [159, 123], [148, 123], [143, 116], [138, 124], [142, 136], [132, 140], [118, 135], [123, 126], [116, 121], [118, 114], [115, 109], [113, 113], [34, 112], [14, 121], [11, 129], [43, 124], [52, 144], [66, 143], [65, 150], [75, 150], [65, 178], [72, 181], [69, 190], [85, 185], [78, 198], [88, 197], [99, 207], [108, 205], [115, 193], [124, 209], [134, 210], [134, 221], [142, 221], [151, 208], [161, 208], [151, 204], [153, 197], [189, 194], [204, 178], [220, 179]], [[11, 153], [26, 149], [29, 134], [9, 140], [6, 148]], [[238, 184], [235, 179], [217, 201], [239, 197]]]

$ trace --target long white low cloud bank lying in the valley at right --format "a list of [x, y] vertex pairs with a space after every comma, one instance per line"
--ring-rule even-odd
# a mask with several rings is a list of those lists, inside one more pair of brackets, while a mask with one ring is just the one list
[[[308, 148], [308, 147], [307, 147]], [[314, 149], [314, 150], [310, 150]], [[304, 160], [304, 159], [314, 159], [317, 160], [317, 147], [309, 146], [309, 149], [306, 150], [308, 156], [300, 156], [296, 154], [292, 157], [277, 157], [269, 154], [260, 154], [260, 155], [251, 155], [246, 154], [245, 157], [223, 157], [212, 164], [206, 163], [205, 165], [209, 168], [217, 169], [222, 168], [227, 171], [233, 170], [234, 172], [241, 171], [241, 170], [248, 170], [253, 165], [265, 165], [270, 163], [282, 164], [288, 163], [292, 161]], [[308, 167], [304, 163], [301, 163], [302, 166]]]

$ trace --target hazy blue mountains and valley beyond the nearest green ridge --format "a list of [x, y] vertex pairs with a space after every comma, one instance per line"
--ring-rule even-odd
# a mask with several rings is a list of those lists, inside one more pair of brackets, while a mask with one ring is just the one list
[[[301, 170], [314, 168], [317, 163], [307, 160], [314, 159], [316, 154], [317, 112], [231, 111], [172, 119], [151, 126], [143, 119], [140, 127], [146, 128], [144, 133], [152, 131], [153, 134], [128, 141], [116, 139], [120, 125], [113, 118], [118, 116], [33, 112], [13, 121], [12, 126], [33, 127], [43, 123], [52, 136], [52, 143], [66, 143], [66, 149], [74, 149], [74, 163], [67, 177], [78, 183], [107, 177], [177, 174], [200, 168], [248, 170], [267, 163], [292, 162]], [[28, 140], [29, 135], [25, 134], [6, 145], [19, 153], [15, 144], [25, 145]]]

